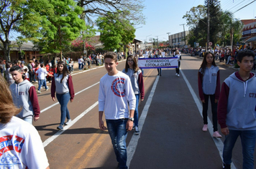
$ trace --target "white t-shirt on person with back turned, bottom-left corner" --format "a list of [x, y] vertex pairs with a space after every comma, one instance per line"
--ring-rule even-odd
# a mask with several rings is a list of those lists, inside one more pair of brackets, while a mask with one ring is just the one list
[[0, 168], [40, 168], [49, 166], [42, 140], [35, 127], [19, 117], [0, 122]]

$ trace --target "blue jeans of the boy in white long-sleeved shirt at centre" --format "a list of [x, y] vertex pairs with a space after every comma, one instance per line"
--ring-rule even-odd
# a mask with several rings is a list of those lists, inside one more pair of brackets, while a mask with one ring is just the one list
[[119, 168], [127, 168], [127, 119], [106, 120]]

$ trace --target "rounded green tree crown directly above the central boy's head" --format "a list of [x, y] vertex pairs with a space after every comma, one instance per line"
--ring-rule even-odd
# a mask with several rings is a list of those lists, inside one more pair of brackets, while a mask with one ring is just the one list
[[104, 43], [104, 49], [114, 51], [129, 44], [135, 37], [135, 29], [126, 19], [119, 14], [101, 16], [96, 21], [101, 32], [100, 40]]

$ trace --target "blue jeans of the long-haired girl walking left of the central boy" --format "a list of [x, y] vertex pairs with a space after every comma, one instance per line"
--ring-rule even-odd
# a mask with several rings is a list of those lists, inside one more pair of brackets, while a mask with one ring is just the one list
[[67, 119], [70, 119], [69, 111], [68, 111], [68, 101], [70, 100], [70, 94], [69, 92], [63, 95], [59, 95], [56, 93], [56, 97], [58, 99], [58, 102], [60, 102], [60, 125], [64, 125], [65, 117]]

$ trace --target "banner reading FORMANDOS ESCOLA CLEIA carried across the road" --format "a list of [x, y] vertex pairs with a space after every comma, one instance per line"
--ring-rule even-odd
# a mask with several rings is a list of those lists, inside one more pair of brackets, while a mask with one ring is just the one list
[[141, 69], [177, 68], [178, 57], [139, 58], [138, 67]]

